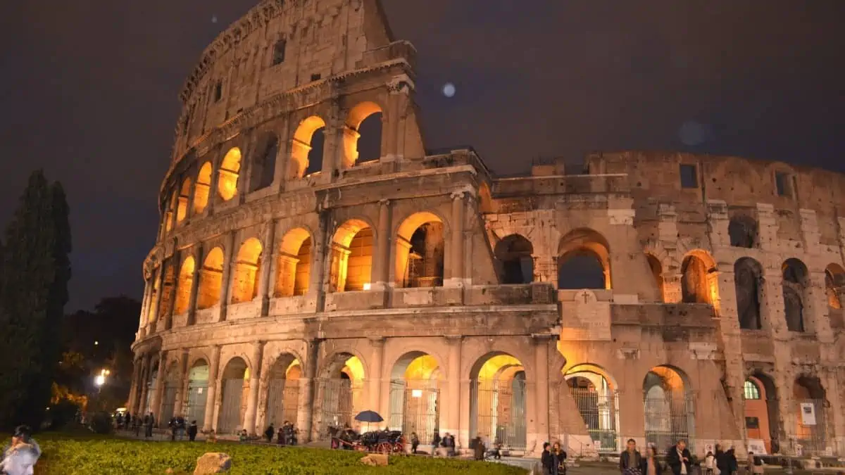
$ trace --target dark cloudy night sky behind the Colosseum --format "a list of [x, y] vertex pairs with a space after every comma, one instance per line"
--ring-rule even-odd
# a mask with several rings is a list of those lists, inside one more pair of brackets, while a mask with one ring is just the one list
[[[0, 226], [25, 177], [67, 188], [68, 310], [143, 292], [155, 197], [199, 53], [255, 0], [2, 2]], [[497, 172], [690, 150], [845, 171], [842, 0], [384, 0], [417, 46], [426, 145]], [[215, 18], [216, 22], [212, 21]], [[440, 94], [444, 83], [455, 97]]]

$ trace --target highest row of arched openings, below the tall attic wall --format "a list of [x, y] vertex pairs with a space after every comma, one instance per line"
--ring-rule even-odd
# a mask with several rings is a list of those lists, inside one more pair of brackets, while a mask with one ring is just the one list
[[[306, 117], [298, 123], [290, 141], [290, 156], [284, 179], [297, 180], [323, 170], [325, 134], [326, 123], [319, 115]], [[378, 160], [382, 149], [381, 106], [365, 101], [352, 107], [343, 123], [341, 137], [342, 168]], [[244, 154], [240, 147], [226, 150], [216, 174], [212, 161], [204, 161], [195, 177], [183, 177], [172, 191], [170, 202], [163, 213], [164, 232], [170, 232], [190, 214], [202, 214], [210, 204], [210, 198], [215, 195], [213, 191], [218, 199], [225, 202], [233, 199], [239, 191], [252, 193], [269, 187], [275, 179], [280, 149], [280, 139], [275, 132], [265, 131], [256, 137], [246, 180], [248, 188], [243, 188], [240, 183], [244, 178]], [[213, 184], [213, 178], [216, 178], [216, 184]]]

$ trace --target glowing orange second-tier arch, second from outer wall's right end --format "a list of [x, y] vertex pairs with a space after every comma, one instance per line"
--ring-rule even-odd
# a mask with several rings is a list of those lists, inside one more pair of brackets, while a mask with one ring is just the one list
[[373, 228], [349, 220], [337, 228], [331, 246], [330, 292], [369, 290], [373, 276]]

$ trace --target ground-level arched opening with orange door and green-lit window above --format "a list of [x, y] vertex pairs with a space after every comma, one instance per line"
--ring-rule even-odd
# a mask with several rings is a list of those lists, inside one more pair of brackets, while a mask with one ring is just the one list
[[745, 431], [749, 439], [762, 440], [770, 454], [780, 450], [777, 436], [777, 392], [774, 381], [756, 373], [745, 379]]

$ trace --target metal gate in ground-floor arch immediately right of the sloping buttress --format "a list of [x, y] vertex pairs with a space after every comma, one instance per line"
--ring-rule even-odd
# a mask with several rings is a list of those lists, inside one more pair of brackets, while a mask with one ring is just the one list
[[568, 390], [581, 413], [587, 434], [600, 451], [619, 450], [616, 428], [619, 425], [619, 394], [616, 391], [594, 388], [575, 388], [567, 385], [561, 388], [559, 397], [565, 397]]

